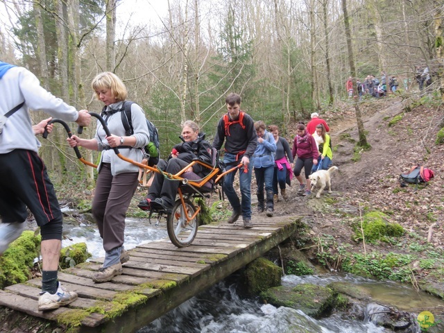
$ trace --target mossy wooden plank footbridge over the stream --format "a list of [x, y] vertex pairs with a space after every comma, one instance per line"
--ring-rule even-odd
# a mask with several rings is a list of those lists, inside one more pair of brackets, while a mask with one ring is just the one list
[[123, 274], [96, 284], [102, 259], [59, 272], [78, 300], [54, 311], [37, 311], [42, 280], [0, 290], [0, 305], [69, 327], [77, 332], [135, 332], [185, 300], [223, 280], [296, 231], [297, 216], [255, 216], [254, 228], [240, 221], [202, 225], [191, 246], [176, 248], [168, 238], [130, 250]]

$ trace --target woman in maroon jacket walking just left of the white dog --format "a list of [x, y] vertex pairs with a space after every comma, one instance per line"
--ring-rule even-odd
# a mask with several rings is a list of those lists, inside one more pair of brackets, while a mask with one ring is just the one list
[[[296, 126], [296, 137], [293, 142], [293, 150], [291, 151], [293, 155], [293, 160], [296, 155], [298, 156], [298, 160], [296, 160], [293, 173], [296, 176], [296, 179], [299, 181], [299, 192], [302, 196], [309, 196], [311, 194], [310, 191], [310, 176], [311, 168], [314, 165], [318, 165], [318, 148], [316, 147], [316, 141], [314, 137], [311, 136], [305, 130], [305, 126], [303, 123], [298, 123]], [[304, 168], [305, 171], [305, 182], [300, 176], [300, 171]], [[304, 192], [305, 189], [305, 192]]]

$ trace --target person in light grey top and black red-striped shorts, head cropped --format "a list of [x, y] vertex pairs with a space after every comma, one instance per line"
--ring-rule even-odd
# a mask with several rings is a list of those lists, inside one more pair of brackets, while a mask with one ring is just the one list
[[62, 212], [46, 167], [37, 154], [29, 111], [88, 126], [87, 110], [77, 112], [40, 86], [30, 71], [0, 62], [0, 255], [24, 230], [31, 210], [42, 235], [42, 292], [38, 309], [46, 311], [74, 302], [77, 294], [58, 282], [62, 246]]

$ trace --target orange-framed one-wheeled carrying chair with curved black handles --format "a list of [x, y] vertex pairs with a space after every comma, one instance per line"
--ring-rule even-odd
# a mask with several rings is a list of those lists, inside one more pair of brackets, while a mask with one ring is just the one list
[[[91, 114], [92, 117], [96, 117], [97, 119], [99, 119], [103, 126], [103, 129], [105, 130], [106, 135], [111, 135], [108, 126], [99, 114], [96, 114], [94, 112], [89, 112], [89, 114]], [[52, 119], [51, 121], [49, 121], [49, 123], [61, 123], [62, 126], [65, 127], [68, 136], [72, 136], [71, 129], [69, 128], [67, 123], [65, 123], [65, 121], [62, 121], [60, 119]], [[79, 127], [78, 133], [81, 134], [82, 131], [83, 129]], [[47, 136], [48, 133], [45, 129], [43, 137], [46, 138]], [[208, 164], [202, 160], [195, 159], [187, 167], [173, 175], [171, 173], [165, 173], [164, 171], [158, 169], [156, 166], [150, 167], [148, 166], [148, 164], [130, 160], [129, 158], [121, 155], [117, 147], [114, 147], [112, 149], [114, 150], [114, 153], [116, 153], [117, 156], [121, 158], [121, 160], [134, 164], [143, 171], [161, 173], [167, 181], [180, 182], [176, 201], [174, 202], [171, 210], [167, 211], [158, 206], [154, 206], [150, 210], [148, 210], [148, 219], [150, 219], [150, 221], [151, 216], [153, 214], [157, 214], [156, 225], [159, 224], [159, 221], [160, 219], [162, 219], [162, 217], [166, 217], [169, 239], [171, 240], [171, 243], [173, 243], [178, 248], [191, 245], [194, 238], [196, 237], [198, 230], [198, 214], [201, 211], [200, 205], [196, 204], [196, 198], [210, 198], [211, 194], [219, 189], [219, 186], [221, 192], [223, 193], [223, 177], [227, 173], [243, 167], [243, 164], [239, 163], [225, 171], [223, 166], [221, 165], [221, 162], [219, 161], [220, 152], [216, 151], [216, 149], [213, 148], [212, 164]], [[88, 162], [82, 157], [77, 146], [74, 147], [74, 151], [76, 153], [76, 157], [78, 158], [78, 160], [80, 160], [80, 162], [83, 162], [83, 164], [86, 164], [89, 167], [97, 167], [96, 164]], [[205, 177], [201, 177], [194, 172], [185, 172], [187, 169], [189, 169], [189, 167], [192, 167], [195, 164], [200, 164], [208, 169], [208, 173]]]

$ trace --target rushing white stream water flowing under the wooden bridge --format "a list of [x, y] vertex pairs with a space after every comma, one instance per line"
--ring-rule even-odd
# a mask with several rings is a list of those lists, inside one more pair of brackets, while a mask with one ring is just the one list
[[[167, 237], [166, 226], [150, 224], [146, 219], [126, 219], [125, 247], [134, 248], [139, 244]], [[80, 225], [68, 231], [69, 239], [63, 241], [63, 246], [85, 242], [93, 258], [105, 255], [99, 232], [88, 225]], [[433, 307], [443, 306], [444, 302], [427, 295], [417, 293], [407, 285], [395, 282], [377, 282], [353, 275], [286, 275], [282, 285], [294, 287], [301, 283], [311, 283], [326, 286], [331, 282], [350, 282], [364, 287], [372, 298], [364, 306], [364, 320], [355, 316], [345, 316], [334, 313], [328, 318], [316, 320], [300, 310], [289, 307], [274, 307], [264, 305], [258, 298], [248, 298], [239, 292], [238, 273], [230, 275], [225, 280], [187, 300], [176, 309], [143, 327], [138, 333], [387, 333], [393, 332], [372, 323], [370, 316], [378, 311], [380, 305], [392, 305], [398, 309], [415, 312], [425, 304]], [[419, 313], [420, 311], [418, 311]], [[419, 333], [418, 325], [413, 325], [409, 333]]]

